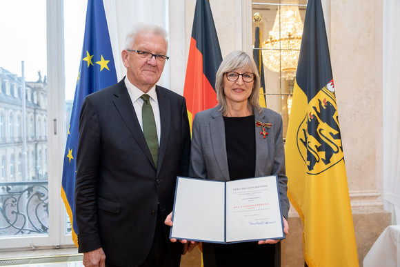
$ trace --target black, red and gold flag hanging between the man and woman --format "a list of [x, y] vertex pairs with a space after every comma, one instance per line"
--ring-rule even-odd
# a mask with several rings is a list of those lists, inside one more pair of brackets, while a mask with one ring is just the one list
[[222, 55], [210, 3], [208, 0], [197, 0], [183, 90], [190, 129], [197, 112], [217, 105], [215, 74], [221, 61]]

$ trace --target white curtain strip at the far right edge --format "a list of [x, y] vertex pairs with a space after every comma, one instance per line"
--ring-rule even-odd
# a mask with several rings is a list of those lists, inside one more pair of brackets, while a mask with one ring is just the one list
[[383, 2], [383, 199], [400, 224], [400, 1]]

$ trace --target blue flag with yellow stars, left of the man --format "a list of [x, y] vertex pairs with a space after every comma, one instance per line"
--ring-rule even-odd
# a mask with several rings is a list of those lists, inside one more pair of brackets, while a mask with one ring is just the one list
[[79, 115], [86, 95], [111, 86], [114, 83], [117, 83], [117, 73], [114, 66], [114, 57], [112, 56], [103, 1], [88, 0], [81, 66], [79, 67], [70, 126], [68, 127], [61, 185], [61, 197], [70, 216], [72, 240], [76, 246], [78, 246], [78, 228], [74, 216], [74, 190], [79, 141]]

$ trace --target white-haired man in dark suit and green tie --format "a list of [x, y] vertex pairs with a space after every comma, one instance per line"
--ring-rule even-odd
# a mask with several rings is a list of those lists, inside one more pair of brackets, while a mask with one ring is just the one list
[[[188, 176], [190, 129], [185, 99], [155, 85], [167, 49], [163, 28], [137, 26], [122, 51], [126, 77], [83, 102], [75, 205], [85, 266], [179, 266], [182, 246], [163, 221], [177, 175]], [[154, 123], [155, 152], [143, 134]]]

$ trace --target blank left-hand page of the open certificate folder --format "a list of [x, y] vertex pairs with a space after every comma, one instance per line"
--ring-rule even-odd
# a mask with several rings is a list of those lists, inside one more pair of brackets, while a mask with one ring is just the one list
[[225, 242], [225, 182], [179, 177], [170, 237]]

